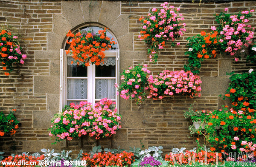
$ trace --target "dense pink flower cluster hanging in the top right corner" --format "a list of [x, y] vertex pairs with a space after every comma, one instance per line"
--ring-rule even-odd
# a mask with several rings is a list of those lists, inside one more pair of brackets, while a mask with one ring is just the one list
[[223, 28], [220, 30], [219, 38], [221, 40], [219, 42], [225, 46], [225, 52], [230, 53], [236, 61], [239, 60], [235, 56], [237, 51], [241, 50], [243, 46], [248, 47], [253, 38], [253, 31], [246, 30], [246, 28], [251, 28], [251, 25], [246, 24], [249, 21], [247, 18], [250, 12], [254, 12], [254, 10], [230, 15], [229, 20], [223, 22]]

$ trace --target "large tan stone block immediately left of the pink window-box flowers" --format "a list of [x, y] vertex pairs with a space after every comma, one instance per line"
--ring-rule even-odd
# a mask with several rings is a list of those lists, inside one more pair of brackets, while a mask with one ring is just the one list
[[51, 126], [51, 119], [54, 114], [58, 113], [49, 111], [34, 111], [33, 112], [33, 127], [34, 128], [49, 128]]

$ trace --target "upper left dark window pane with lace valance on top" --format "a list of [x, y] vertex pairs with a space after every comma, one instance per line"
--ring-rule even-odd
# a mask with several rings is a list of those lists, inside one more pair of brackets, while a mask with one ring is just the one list
[[77, 65], [77, 63], [71, 64], [74, 61], [73, 57], [67, 57], [67, 76], [84, 76], [87, 77], [87, 67]]

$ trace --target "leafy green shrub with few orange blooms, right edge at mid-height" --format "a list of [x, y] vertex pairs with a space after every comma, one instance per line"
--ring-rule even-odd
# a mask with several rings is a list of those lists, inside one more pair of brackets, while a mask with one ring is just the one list
[[232, 108], [236, 111], [256, 109], [256, 72], [250, 69], [248, 73], [230, 75], [225, 97], [231, 99]]

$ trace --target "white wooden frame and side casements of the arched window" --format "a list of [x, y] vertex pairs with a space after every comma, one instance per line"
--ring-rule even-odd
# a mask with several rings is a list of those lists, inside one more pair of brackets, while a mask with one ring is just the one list
[[[95, 101], [100, 99], [95, 99], [95, 79], [116, 79], [116, 83], [119, 84], [119, 49], [105, 51], [105, 57], [116, 57], [116, 76], [115, 77], [95, 77], [95, 64], [87, 67], [87, 77], [67, 77], [67, 57], [72, 57], [72, 55], [67, 55], [66, 52], [61, 49], [60, 54], [60, 112], [64, 105], [68, 105], [67, 101], [88, 101], [93, 105]], [[87, 79], [87, 99], [67, 99], [67, 79]], [[116, 92], [117, 93], [117, 89]], [[116, 95], [115, 99], [111, 99], [116, 102], [117, 112], [119, 113], [119, 95]]]

